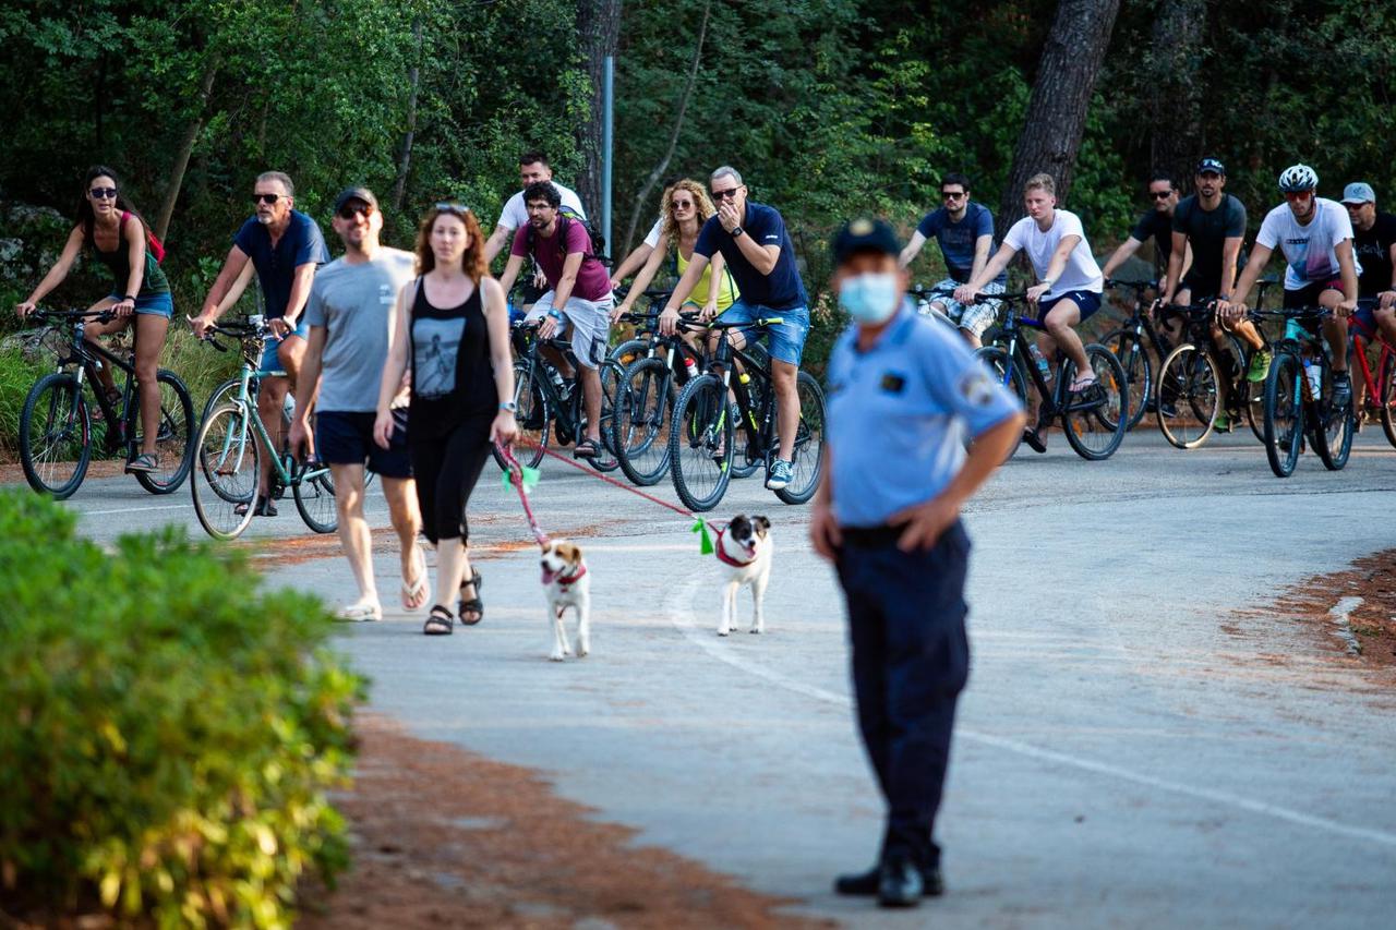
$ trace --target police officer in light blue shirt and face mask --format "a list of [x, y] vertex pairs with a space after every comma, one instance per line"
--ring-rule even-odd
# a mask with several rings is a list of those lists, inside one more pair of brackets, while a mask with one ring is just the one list
[[[885, 222], [833, 239], [853, 325], [829, 359], [825, 468], [810, 536], [849, 609], [859, 728], [886, 800], [878, 864], [835, 891], [888, 908], [942, 892], [931, 838], [969, 672], [959, 511], [1023, 430], [1018, 399], [949, 328], [920, 317]], [[973, 436], [965, 452], [965, 434]]]

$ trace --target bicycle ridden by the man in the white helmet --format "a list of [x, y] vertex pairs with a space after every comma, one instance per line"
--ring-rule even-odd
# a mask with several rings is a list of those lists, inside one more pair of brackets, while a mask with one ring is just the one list
[[[1298, 307], [1256, 313], [1300, 321], [1319, 320], [1329, 310]], [[1279, 478], [1294, 473], [1305, 434], [1325, 468], [1336, 472], [1347, 464], [1353, 450], [1353, 404], [1333, 408], [1330, 367], [1323, 337], [1297, 325], [1286, 327], [1265, 380], [1265, 457]]]

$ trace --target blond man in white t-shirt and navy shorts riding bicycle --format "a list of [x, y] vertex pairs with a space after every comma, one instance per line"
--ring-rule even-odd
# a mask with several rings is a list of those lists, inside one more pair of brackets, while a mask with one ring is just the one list
[[[974, 303], [974, 295], [983, 292], [984, 285], [997, 278], [1018, 251], [1026, 250], [1037, 275], [1037, 283], [1027, 289], [1027, 302], [1037, 306], [1046, 328], [1037, 338], [1037, 348], [1048, 359], [1055, 356], [1058, 348], [1065, 352], [1076, 366], [1072, 392], [1086, 391], [1096, 384], [1096, 373], [1074, 327], [1100, 310], [1104, 275], [1090, 254], [1081, 218], [1069, 209], [1057, 209], [1057, 183], [1051, 175], [1027, 179], [1023, 208], [1027, 215], [1012, 225], [988, 264], [969, 283], [955, 289], [955, 299], [966, 306]], [[1043, 452], [1047, 445], [1037, 433], [1040, 402], [1036, 391], [1030, 391], [1029, 426], [1023, 441]]]

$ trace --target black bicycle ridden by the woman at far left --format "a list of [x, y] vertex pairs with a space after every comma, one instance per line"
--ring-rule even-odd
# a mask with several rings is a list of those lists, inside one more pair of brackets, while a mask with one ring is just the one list
[[[20, 412], [20, 464], [29, 487], [54, 500], [71, 497], [82, 485], [92, 461], [94, 444], [106, 454], [120, 451], [131, 461], [144, 447], [140, 398], [135, 391], [135, 367], [127, 359], [85, 338], [88, 321], [116, 318], [110, 310], [43, 310], [29, 314], [36, 323], [52, 324], [57, 332], [71, 325], [71, 339], [57, 346], [57, 364], [45, 374], [24, 399]], [[117, 394], [101, 390], [98, 370], [107, 364], [126, 373]], [[161, 388], [161, 413], [156, 429], [156, 464], [154, 472], [134, 472], [141, 487], [152, 494], [169, 494], [188, 476], [193, 444], [194, 402], [177, 374], [159, 369], [155, 378]], [[82, 385], [92, 388], [102, 413], [101, 437], [94, 423]]]

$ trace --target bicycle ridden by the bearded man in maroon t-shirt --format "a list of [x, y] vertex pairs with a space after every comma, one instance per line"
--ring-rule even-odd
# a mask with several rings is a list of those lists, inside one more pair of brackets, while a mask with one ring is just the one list
[[[564, 353], [574, 371], [579, 371], [581, 364], [572, 355], [572, 344], [568, 339], [540, 339], [537, 325], [537, 321], [519, 320], [511, 327], [511, 339], [518, 356], [514, 360], [514, 404], [517, 405], [514, 416], [519, 425], [515, 447], [532, 450], [529, 455], [519, 458], [529, 468], [537, 468], [539, 462], [543, 461], [550, 433], [557, 437], [560, 444], [568, 445], [586, 431], [581, 378], [568, 385], [561, 373], [543, 355], [543, 349], [551, 346]], [[620, 384], [624, 370], [614, 359], [603, 359], [597, 374], [602, 380], [599, 425], [602, 441], [597, 454], [589, 462], [599, 472], [613, 472], [620, 464], [609, 443], [610, 419], [616, 409], [616, 385]], [[508, 462], [500, 455], [498, 448], [491, 448], [491, 454], [500, 468], [508, 469]]]

